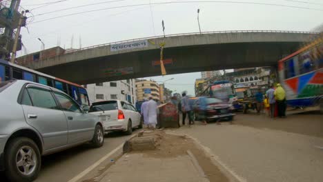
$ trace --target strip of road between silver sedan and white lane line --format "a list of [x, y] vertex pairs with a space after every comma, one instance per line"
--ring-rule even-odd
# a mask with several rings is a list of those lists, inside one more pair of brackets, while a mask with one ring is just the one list
[[[138, 131], [135, 130], [134, 133]], [[91, 148], [85, 144], [57, 154], [44, 156], [42, 158], [41, 172], [36, 182], [69, 181], [101, 159], [101, 157], [117, 148], [118, 145], [124, 143], [128, 137], [122, 133], [111, 133], [106, 136], [104, 146], [101, 148]], [[1, 182], [3, 178], [3, 173], [0, 173]]]

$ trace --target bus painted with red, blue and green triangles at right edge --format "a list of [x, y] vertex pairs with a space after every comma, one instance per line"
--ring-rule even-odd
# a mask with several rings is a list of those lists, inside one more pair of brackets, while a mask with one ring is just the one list
[[319, 105], [323, 109], [323, 40], [278, 61], [280, 83], [286, 91], [287, 105]]

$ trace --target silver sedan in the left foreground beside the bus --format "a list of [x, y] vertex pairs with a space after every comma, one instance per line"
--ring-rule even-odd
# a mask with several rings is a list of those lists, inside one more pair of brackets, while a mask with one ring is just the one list
[[41, 156], [81, 143], [99, 148], [104, 130], [68, 94], [30, 81], [0, 82], [0, 170], [10, 181], [33, 181]]

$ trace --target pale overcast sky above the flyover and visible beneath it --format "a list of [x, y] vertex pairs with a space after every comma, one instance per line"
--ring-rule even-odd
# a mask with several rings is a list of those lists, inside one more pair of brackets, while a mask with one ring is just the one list
[[[28, 23], [28, 30], [27, 28], [21, 30], [21, 34], [23, 35], [22, 41], [26, 46], [27, 53], [32, 53], [41, 49], [41, 43], [37, 38], [43, 40], [46, 48], [57, 45], [60, 45], [63, 48], [79, 48], [80, 46], [87, 47], [113, 41], [161, 35], [161, 20], [163, 19], [165, 22], [166, 34], [198, 32], [198, 8], [200, 9], [199, 21], [202, 31], [310, 31], [323, 23], [322, 0], [239, 0], [239, 2], [244, 3], [223, 3], [224, 1], [222, 1], [222, 3], [219, 3], [219, 1], [215, 3], [215, 1], [213, 1], [212, 3], [168, 3], [158, 5], [154, 5], [153, 3], [181, 2], [181, 0], [108, 0], [113, 1], [109, 3], [101, 3], [108, 2], [104, 0], [67, 0], [59, 3], [52, 3], [48, 6], [43, 5], [43, 3], [53, 1], [58, 0], [21, 0], [21, 6], [31, 10], [34, 15], [28, 14], [28, 16], [32, 16], [30, 17], [32, 22]], [[193, 0], [182, 1], [187, 2]], [[72, 8], [93, 3], [99, 4]], [[152, 5], [112, 8], [144, 3], [152, 3]], [[252, 3], [269, 3], [282, 6]], [[301, 8], [286, 6], [297, 6]], [[59, 11], [64, 8], [72, 9]], [[66, 14], [90, 10], [94, 11], [50, 19]], [[50, 20], [42, 21], [45, 19]], [[72, 37], [74, 40], [73, 43], [71, 43]], [[80, 39], [81, 41], [79, 41]], [[23, 50], [19, 52], [19, 55], [21, 54], [24, 54]], [[166, 87], [171, 90], [177, 90], [177, 92], [187, 90], [188, 94], [194, 94], [194, 81], [199, 77], [200, 73], [197, 72], [168, 75], [165, 77], [152, 77], [152, 79], [164, 81], [166, 79], [175, 78], [171, 81], [167, 81]]]

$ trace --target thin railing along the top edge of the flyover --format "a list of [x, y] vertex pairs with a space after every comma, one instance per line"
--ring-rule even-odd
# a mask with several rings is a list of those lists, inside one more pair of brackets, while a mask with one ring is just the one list
[[[273, 33], [299, 33], [299, 34], [319, 34], [318, 32], [302, 32], [302, 31], [285, 31], [285, 30], [223, 30], [223, 31], [208, 31], [208, 32], [191, 32], [191, 33], [181, 33], [181, 34], [167, 34], [165, 37], [177, 37], [180, 35], [192, 35], [192, 34], [215, 34], [215, 33], [243, 33], [243, 32], [273, 32]], [[73, 50], [68, 50], [65, 53], [70, 53], [70, 52], [77, 52], [79, 50], [86, 50], [90, 48], [97, 48], [101, 46], [106, 46], [106, 45], [113, 45], [117, 43], [126, 43], [126, 42], [131, 42], [131, 41], [141, 41], [141, 40], [146, 40], [146, 39], [157, 39], [157, 38], [163, 38], [164, 35], [159, 35], [159, 36], [153, 36], [153, 37], [143, 37], [143, 38], [137, 38], [137, 39], [128, 39], [124, 41], [115, 41], [115, 42], [110, 42], [110, 43], [102, 43], [98, 45], [91, 45], [88, 47], [84, 48], [79, 48], [79, 49], [73, 49]]]

